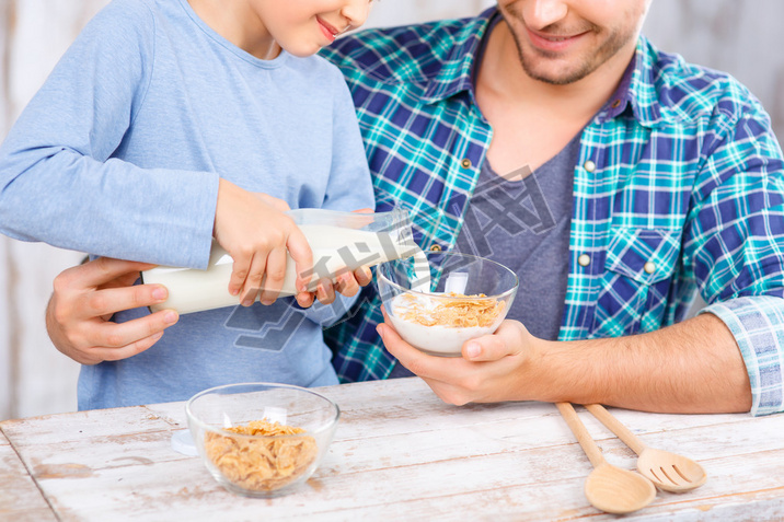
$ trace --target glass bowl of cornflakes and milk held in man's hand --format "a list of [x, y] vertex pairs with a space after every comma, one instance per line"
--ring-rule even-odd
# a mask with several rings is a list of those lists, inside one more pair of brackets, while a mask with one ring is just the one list
[[383, 263], [377, 283], [403, 340], [445, 357], [460, 357], [466, 340], [494, 333], [518, 288], [517, 276], [504, 265], [450, 252]]

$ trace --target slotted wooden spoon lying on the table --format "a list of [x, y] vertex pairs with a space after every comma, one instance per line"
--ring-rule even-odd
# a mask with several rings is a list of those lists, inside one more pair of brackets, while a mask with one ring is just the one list
[[707, 480], [705, 469], [700, 464], [676, 453], [648, 448], [602, 405], [587, 404], [586, 409], [639, 456], [637, 469], [658, 488], [682, 492], [700, 487]]

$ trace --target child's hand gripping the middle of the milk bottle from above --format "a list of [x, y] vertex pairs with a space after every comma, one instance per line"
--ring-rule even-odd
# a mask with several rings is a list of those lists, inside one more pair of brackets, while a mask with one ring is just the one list
[[253, 304], [262, 281], [262, 303], [275, 302], [286, 275], [287, 250], [297, 266], [297, 288], [309, 282], [301, 275], [313, 266], [313, 254], [304, 234], [284, 213], [287, 209], [285, 201], [220, 179], [214, 234], [234, 259], [229, 292], [240, 294], [244, 306]]

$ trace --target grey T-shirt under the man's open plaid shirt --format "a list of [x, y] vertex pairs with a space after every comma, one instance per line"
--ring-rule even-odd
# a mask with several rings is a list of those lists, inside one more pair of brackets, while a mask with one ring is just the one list
[[517, 274], [520, 286], [507, 317], [543, 339], [557, 339], [561, 328], [579, 143], [578, 134], [521, 181], [507, 181], [485, 162], [456, 245]]

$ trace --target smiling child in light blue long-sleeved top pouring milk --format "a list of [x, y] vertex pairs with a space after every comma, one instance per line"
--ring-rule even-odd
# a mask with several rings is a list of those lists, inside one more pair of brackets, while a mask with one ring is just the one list
[[0, 231], [194, 268], [215, 236], [247, 305], [184, 315], [149, 350], [83, 366], [80, 409], [231, 382], [337, 383], [322, 336], [334, 317], [275, 301], [287, 250], [298, 274], [312, 266], [281, 210], [374, 207], [348, 89], [313, 56], [369, 7], [114, 0], [62, 57], [0, 148]]

